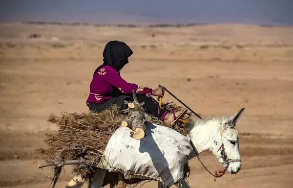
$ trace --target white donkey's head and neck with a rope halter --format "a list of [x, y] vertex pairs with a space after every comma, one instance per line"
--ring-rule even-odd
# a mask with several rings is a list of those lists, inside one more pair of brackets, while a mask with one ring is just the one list
[[203, 119], [189, 126], [189, 136], [196, 152], [212, 151], [231, 174], [236, 174], [241, 169], [236, 123], [243, 112], [244, 108], [230, 118]]

